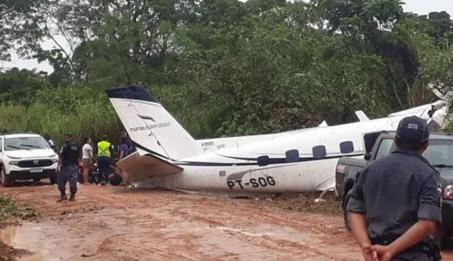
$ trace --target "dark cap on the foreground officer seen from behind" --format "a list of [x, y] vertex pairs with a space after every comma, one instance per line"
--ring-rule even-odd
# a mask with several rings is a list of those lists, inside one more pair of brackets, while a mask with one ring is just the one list
[[396, 129], [396, 137], [407, 145], [419, 145], [428, 141], [429, 129], [426, 120], [417, 116], [406, 117]]

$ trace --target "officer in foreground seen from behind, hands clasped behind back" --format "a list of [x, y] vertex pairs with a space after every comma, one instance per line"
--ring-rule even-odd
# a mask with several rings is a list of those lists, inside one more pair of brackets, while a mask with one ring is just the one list
[[365, 260], [440, 260], [433, 234], [442, 222], [442, 190], [438, 171], [421, 155], [428, 137], [425, 120], [404, 118], [396, 149], [359, 174], [346, 209]]

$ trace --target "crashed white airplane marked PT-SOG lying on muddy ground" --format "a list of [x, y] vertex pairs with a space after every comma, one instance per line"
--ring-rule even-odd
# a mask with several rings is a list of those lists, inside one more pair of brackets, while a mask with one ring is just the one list
[[449, 103], [439, 101], [370, 120], [279, 134], [195, 140], [144, 87], [106, 90], [137, 152], [117, 163], [120, 175], [146, 188], [228, 197], [330, 190], [340, 157], [361, 158], [363, 135], [395, 130], [408, 115], [445, 125]]

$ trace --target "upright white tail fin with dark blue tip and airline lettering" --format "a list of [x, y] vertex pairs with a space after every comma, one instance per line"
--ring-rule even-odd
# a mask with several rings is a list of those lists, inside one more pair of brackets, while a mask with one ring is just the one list
[[113, 108], [137, 147], [166, 159], [195, 155], [195, 140], [144, 87], [106, 90]]

